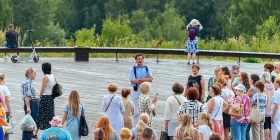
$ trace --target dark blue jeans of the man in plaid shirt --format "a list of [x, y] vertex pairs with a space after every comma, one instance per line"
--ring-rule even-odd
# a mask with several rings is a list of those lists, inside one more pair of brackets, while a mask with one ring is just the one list
[[[30, 110], [31, 110], [30, 115], [36, 123], [37, 117], [38, 117], [39, 101], [29, 101], [29, 104], [30, 104]], [[24, 101], [23, 109], [24, 109], [24, 112], [26, 115], [27, 107], [26, 107], [25, 101]], [[31, 140], [32, 135], [33, 135], [33, 132], [22, 130], [22, 140]]]

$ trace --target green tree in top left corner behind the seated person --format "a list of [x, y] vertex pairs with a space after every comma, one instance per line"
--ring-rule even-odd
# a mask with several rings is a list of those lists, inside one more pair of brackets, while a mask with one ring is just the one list
[[10, 0], [0, 2], [0, 30], [8, 29], [9, 24], [13, 24], [14, 12]]

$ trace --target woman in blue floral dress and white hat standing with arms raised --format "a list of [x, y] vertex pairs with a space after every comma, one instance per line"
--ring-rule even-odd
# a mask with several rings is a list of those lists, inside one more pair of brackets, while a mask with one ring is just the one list
[[[199, 25], [199, 27], [197, 27]], [[201, 23], [197, 19], [192, 19], [191, 22], [187, 25], [187, 30], [189, 31], [189, 38], [187, 40], [185, 52], [188, 52], [188, 63], [190, 62], [190, 55], [192, 53], [192, 64], [194, 63], [195, 60], [195, 53], [199, 52], [199, 38], [198, 38], [198, 33], [203, 29]], [[194, 30], [195, 32], [195, 37], [192, 38], [190, 37], [190, 33]]]

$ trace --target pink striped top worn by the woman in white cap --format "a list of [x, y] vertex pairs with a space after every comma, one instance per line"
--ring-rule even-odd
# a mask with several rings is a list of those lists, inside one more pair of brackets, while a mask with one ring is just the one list
[[244, 104], [244, 113], [242, 118], [236, 118], [236, 117], [231, 117], [231, 119], [237, 121], [238, 123], [246, 124], [249, 123], [249, 107], [251, 106], [251, 100], [250, 97], [247, 95], [240, 95], [236, 96], [234, 103], [238, 102], [240, 103], [240, 98], [241, 97], [241, 102]]

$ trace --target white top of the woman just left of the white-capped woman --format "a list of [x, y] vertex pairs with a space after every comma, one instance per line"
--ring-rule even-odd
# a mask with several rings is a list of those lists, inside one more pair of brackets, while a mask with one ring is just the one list
[[[215, 105], [214, 105], [214, 108], [213, 108], [212, 113], [211, 113], [211, 118], [215, 121], [222, 121], [223, 99], [220, 96], [215, 96], [213, 98], [215, 100]], [[206, 112], [208, 111], [208, 102], [204, 105], [204, 108], [205, 108]]]

